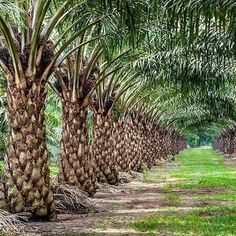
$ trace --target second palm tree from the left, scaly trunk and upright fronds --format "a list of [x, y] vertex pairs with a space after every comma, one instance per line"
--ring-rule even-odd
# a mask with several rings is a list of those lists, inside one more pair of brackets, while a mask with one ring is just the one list
[[[96, 38], [97, 39], [97, 38]], [[65, 58], [55, 72], [54, 90], [62, 102], [62, 154], [59, 181], [75, 185], [93, 194], [96, 190], [96, 163], [89, 151], [87, 113], [89, 99], [97, 86], [120, 67], [111, 62], [100, 65], [101, 43], [84, 36], [76, 53]], [[90, 53], [89, 53], [90, 51]], [[108, 71], [109, 70], [109, 71]]]

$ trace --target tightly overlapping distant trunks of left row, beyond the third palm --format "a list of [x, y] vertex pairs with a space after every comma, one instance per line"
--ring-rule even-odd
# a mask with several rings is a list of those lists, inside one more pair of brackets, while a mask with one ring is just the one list
[[113, 133], [114, 163], [122, 171], [142, 172], [186, 148], [186, 140], [135, 112], [120, 120]]

